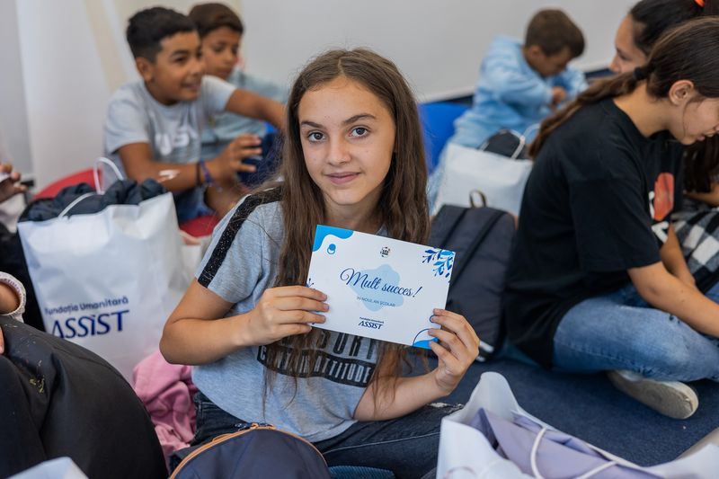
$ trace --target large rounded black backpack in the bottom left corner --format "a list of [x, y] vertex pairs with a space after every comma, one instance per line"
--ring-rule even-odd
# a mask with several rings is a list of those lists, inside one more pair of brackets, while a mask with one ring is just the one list
[[88, 477], [167, 477], [155, 426], [115, 368], [8, 316], [0, 328], [0, 477], [63, 456]]

